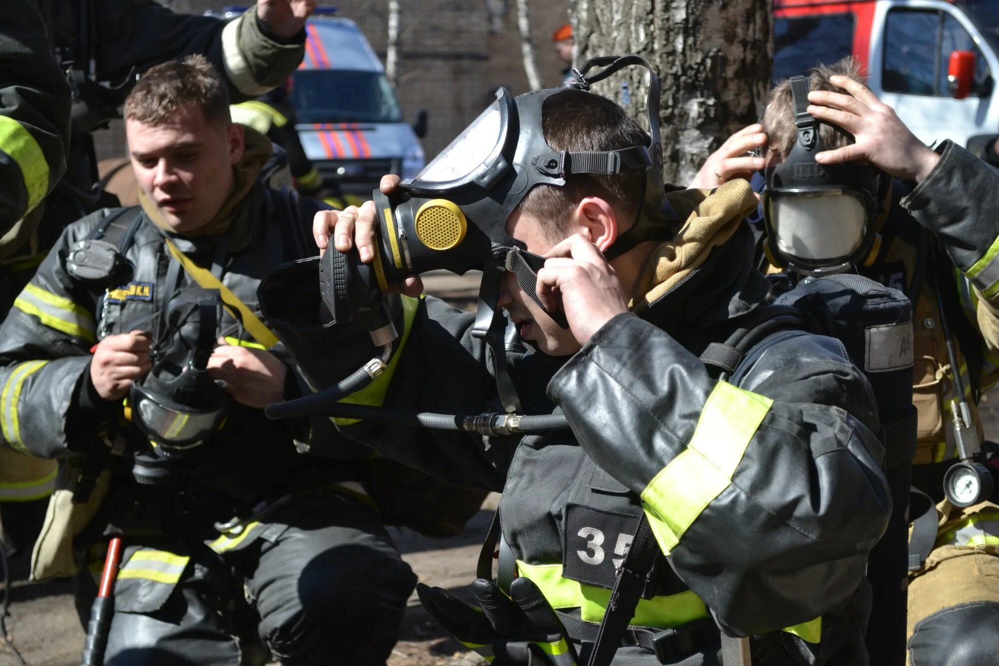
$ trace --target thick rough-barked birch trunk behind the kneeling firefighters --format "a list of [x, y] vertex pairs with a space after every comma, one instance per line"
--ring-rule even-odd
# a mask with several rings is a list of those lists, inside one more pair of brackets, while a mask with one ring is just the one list
[[[576, 66], [636, 53], [659, 76], [663, 178], [689, 183], [730, 134], [759, 119], [773, 64], [772, 0], [570, 0]], [[644, 126], [638, 68], [593, 87]]]

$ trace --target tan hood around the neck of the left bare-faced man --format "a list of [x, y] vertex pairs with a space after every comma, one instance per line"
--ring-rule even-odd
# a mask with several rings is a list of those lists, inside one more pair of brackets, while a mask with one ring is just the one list
[[[260, 175], [261, 169], [267, 164], [267, 161], [271, 159], [271, 155], [274, 149], [271, 147], [271, 140], [266, 136], [261, 134], [255, 129], [250, 127], [244, 127], [244, 134], [246, 136], [246, 150], [243, 153], [243, 159], [233, 167], [236, 173], [236, 182], [233, 186], [233, 194], [226, 200], [216, 213], [215, 217], [209, 220], [208, 224], [203, 227], [199, 227], [194, 231], [184, 232], [185, 236], [195, 237], [195, 236], [214, 236], [216, 234], [221, 234], [228, 230], [230, 225], [236, 220], [237, 225], [244, 226], [244, 224], [249, 220], [252, 220], [254, 216], [247, 215], [249, 211], [241, 210], [241, 208], [246, 208], [242, 206], [244, 202], [248, 206], [253, 206], [253, 197], [247, 197], [250, 190], [253, 189], [254, 184], [257, 182], [257, 177]], [[146, 193], [139, 188], [139, 203], [142, 204], [142, 209], [146, 212], [156, 226], [160, 227], [165, 231], [172, 231], [172, 229], [163, 222], [163, 218], [160, 216], [160, 211], [156, 207]], [[244, 237], [247, 234], [244, 233], [244, 229], [236, 229], [236, 237]], [[242, 243], [232, 243], [230, 247], [232, 249], [239, 249]]]

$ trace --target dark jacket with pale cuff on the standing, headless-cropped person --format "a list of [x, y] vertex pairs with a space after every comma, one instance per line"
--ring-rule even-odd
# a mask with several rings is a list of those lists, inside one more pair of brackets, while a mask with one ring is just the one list
[[[255, 7], [227, 23], [210, 16], [175, 14], [154, 0], [34, 0], [27, 3], [16, 0], [16, 3], [35, 5], [37, 9], [26, 6], [23, 11], [4, 12], [10, 14], [14, 22], [5, 16], [0, 29], [0, 67], [5, 74], [4, 80], [16, 81], [18, 87], [7, 88], [7, 84], [3, 84], [3, 108], [11, 106], [20, 109], [17, 113], [34, 114], [24, 118], [29, 123], [24, 128], [36, 144], [18, 133], [18, 142], [12, 144], [12, 150], [16, 147], [14, 153], [0, 148], [0, 155], [6, 153], [0, 157], [0, 169], [4, 170], [0, 175], [6, 176], [6, 171], [16, 165], [22, 170], [24, 180], [23, 185], [16, 187], [14, 184], [22, 178], [4, 177], [0, 181], [3, 182], [0, 232], [6, 233], [27, 210], [37, 205], [65, 171], [67, 200], [49, 206], [51, 210], [46, 212], [46, 222], [37, 237], [41, 252], [51, 246], [70, 220], [98, 207], [85, 201], [93, 194], [91, 187], [97, 182], [89, 133], [119, 117], [118, 109], [137, 75], [171, 59], [205, 54], [224, 74], [233, 100], [240, 101], [267, 92], [285, 81], [295, 72], [305, 52], [304, 30], [283, 40], [266, 30], [256, 16]], [[8, 8], [5, 6], [5, 9]], [[89, 22], [81, 19], [88, 9]], [[14, 31], [24, 32], [29, 21], [26, 17], [34, 16], [37, 22], [38, 14], [45, 24], [44, 29], [35, 26], [36, 29], [29, 32], [30, 39], [19, 39]], [[25, 23], [23, 28], [22, 22]], [[89, 27], [85, 29], [85, 25]], [[11, 33], [13, 38], [3, 36]], [[44, 37], [46, 33], [48, 40]], [[90, 69], [93, 69], [93, 77], [86, 76]], [[73, 81], [71, 113], [67, 109], [70, 104], [67, 76]], [[9, 94], [11, 90], [13, 95]], [[6, 110], [0, 114], [9, 115]], [[70, 114], [70, 128], [66, 126], [67, 114]], [[22, 122], [20, 118], [15, 117], [15, 120]], [[9, 129], [12, 128], [11, 125]], [[73, 135], [72, 141], [69, 136], [60, 136], [67, 129]], [[2, 132], [0, 136], [3, 136]], [[6, 141], [0, 139], [0, 143]], [[64, 157], [67, 144], [69, 153]], [[18, 250], [21, 252], [16, 258], [24, 259], [21, 254], [38, 227], [38, 219], [31, 220], [30, 224], [25, 222], [19, 225], [16, 236], [0, 243], [0, 259], [14, 257]]]

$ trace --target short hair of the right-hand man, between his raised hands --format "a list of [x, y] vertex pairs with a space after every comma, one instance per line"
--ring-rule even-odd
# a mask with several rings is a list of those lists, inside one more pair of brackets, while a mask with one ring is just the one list
[[[853, 56], [846, 56], [831, 65], [819, 64], [808, 70], [808, 89], [845, 93], [845, 90], [832, 85], [829, 80], [829, 77], [835, 75], [846, 76], [859, 83], [864, 82], [860, 74], [860, 64]], [[781, 159], [786, 158], [798, 140], [798, 130], [794, 124], [794, 100], [789, 80], [783, 79], [770, 91], [761, 122], [770, 149], [780, 153]], [[829, 123], [819, 123], [818, 135], [827, 150], [842, 148], [854, 142], [852, 134]]]

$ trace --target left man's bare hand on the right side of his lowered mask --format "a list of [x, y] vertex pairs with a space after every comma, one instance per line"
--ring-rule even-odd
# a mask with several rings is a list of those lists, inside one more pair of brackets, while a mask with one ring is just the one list
[[208, 374], [226, 382], [233, 399], [248, 407], [263, 409], [285, 397], [288, 368], [263, 349], [237, 347], [220, 338], [208, 359]]

